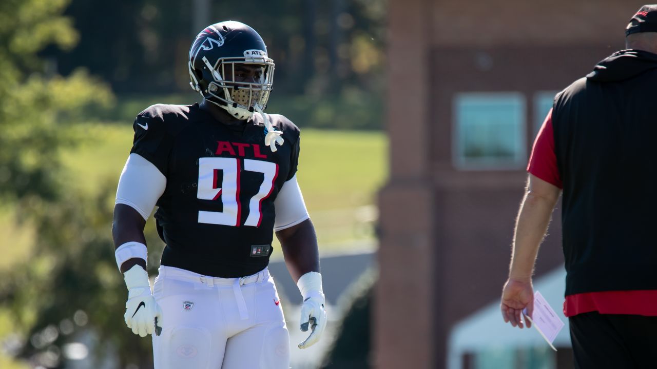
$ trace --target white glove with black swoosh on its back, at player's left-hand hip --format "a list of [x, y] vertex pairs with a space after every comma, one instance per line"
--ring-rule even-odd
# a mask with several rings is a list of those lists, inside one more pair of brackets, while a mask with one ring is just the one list
[[[148, 273], [135, 265], [124, 273], [128, 299], [125, 303], [125, 324], [134, 334], [146, 337], [153, 334], [158, 324], [162, 324], [162, 309], [150, 293]], [[159, 327], [158, 327], [159, 328]]]

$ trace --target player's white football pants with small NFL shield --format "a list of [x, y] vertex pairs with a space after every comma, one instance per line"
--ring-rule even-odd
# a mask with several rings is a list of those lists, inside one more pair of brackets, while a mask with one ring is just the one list
[[162, 307], [155, 369], [288, 369], [289, 334], [266, 268], [212, 278], [162, 266], [153, 290]]

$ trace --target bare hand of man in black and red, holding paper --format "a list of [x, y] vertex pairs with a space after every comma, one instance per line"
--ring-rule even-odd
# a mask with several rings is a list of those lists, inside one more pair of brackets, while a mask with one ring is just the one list
[[[523, 328], [520, 315], [525, 308], [527, 308], [527, 315], [531, 318], [533, 314], [532, 278], [527, 280], [509, 278], [502, 292], [501, 309], [504, 322], [510, 322], [514, 327]], [[529, 320], [526, 320], [525, 323], [527, 328], [532, 326]]]

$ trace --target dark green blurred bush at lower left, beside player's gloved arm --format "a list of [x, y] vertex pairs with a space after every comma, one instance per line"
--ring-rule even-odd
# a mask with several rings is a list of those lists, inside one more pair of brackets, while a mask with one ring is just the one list
[[[86, 335], [98, 342], [89, 347], [89, 367], [108, 357], [122, 368], [152, 367], [150, 339], [123, 322], [127, 291], [110, 234], [114, 180], [95, 196], [67, 192], [54, 206], [30, 202], [34, 257], [0, 278], [0, 297], [24, 331], [19, 357], [64, 368], [67, 344]], [[146, 233], [148, 244], [159, 243], [152, 222]], [[159, 256], [149, 253], [149, 264]]]

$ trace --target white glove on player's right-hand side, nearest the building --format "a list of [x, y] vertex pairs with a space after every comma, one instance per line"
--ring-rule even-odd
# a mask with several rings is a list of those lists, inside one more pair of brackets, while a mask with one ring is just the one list
[[322, 276], [318, 272], [308, 272], [299, 278], [297, 282], [299, 290], [304, 296], [304, 304], [301, 306], [300, 328], [310, 335], [305, 341], [299, 343], [300, 349], [311, 347], [319, 341], [327, 323], [327, 312], [324, 308], [325, 296], [322, 291]]

